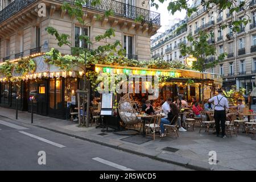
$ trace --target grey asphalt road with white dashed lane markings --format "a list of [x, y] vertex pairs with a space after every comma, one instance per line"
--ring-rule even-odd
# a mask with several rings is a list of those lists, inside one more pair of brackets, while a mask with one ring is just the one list
[[[0, 170], [187, 170], [0, 117]], [[39, 151], [46, 165], [39, 165]], [[42, 155], [42, 154], [41, 154]], [[43, 162], [42, 157], [40, 158]]]

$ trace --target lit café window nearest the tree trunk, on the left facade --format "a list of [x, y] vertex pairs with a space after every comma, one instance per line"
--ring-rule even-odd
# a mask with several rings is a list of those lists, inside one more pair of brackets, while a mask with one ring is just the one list
[[65, 103], [76, 104], [77, 78], [65, 79]]

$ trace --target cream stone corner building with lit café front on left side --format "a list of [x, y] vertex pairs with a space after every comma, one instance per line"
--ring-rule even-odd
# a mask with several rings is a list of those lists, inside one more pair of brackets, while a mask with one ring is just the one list
[[[46, 14], [39, 16], [40, 8], [44, 7], [40, 3], [45, 5]], [[101, 5], [97, 7], [88, 1], [83, 9], [83, 18], [89, 22], [86, 28], [80, 27], [74, 17], [61, 9], [62, 3], [55, 0], [0, 0], [0, 64], [27, 56], [33, 57], [36, 63], [35, 73], [27, 75], [26, 79], [1, 82], [0, 106], [15, 108], [15, 96], [18, 95], [18, 109], [30, 111], [32, 104], [29, 97], [36, 94], [33, 104], [35, 113], [66, 117], [67, 102], [76, 96], [75, 90], [81, 87], [82, 79], [77, 77], [77, 71], [61, 72], [44, 61], [44, 53], [51, 48], [71, 54], [68, 46], [57, 46], [55, 37], [45, 30], [48, 26], [68, 34], [74, 47], [89, 49], [105, 43], [101, 41], [93, 46], [83, 44], [78, 39], [81, 34], [94, 40], [112, 27], [115, 36], [107, 39], [108, 43], [119, 40], [128, 59], [150, 60], [150, 38], [160, 28], [160, 14], [142, 5], [142, 0], [101, 0]], [[113, 10], [113, 16], [97, 18], [109, 9]], [[144, 23], [135, 20], [141, 15], [144, 16]]]

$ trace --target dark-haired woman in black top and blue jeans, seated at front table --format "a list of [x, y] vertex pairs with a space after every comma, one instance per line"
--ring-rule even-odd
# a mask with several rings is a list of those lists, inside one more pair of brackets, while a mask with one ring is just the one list
[[[182, 126], [181, 126], [181, 119], [179, 117], [179, 110], [177, 109], [176, 104], [172, 103], [170, 104], [170, 112], [168, 113], [168, 118], [162, 118], [161, 122], [160, 122], [160, 133], [161, 133], [161, 137], [164, 137], [164, 124], [166, 125], [174, 125], [175, 123], [171, 123], [172, 119], [174, 119], [174, 117], [178, 117], [178, 126], [179, 126], [179, 131], [187, 131], [185, 130]], [[173, 121], [175, 122], [175, 121]]]

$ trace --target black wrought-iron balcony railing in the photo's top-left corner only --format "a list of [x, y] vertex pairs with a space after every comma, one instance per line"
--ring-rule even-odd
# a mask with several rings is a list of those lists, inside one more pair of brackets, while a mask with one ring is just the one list
[[35, 1], [36, 0], [15, 0], [11, 2], [10, 5], [6, 6], [5, 9], [0, 11], [0, 23]]

